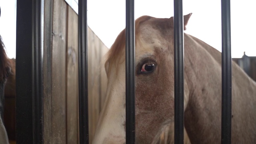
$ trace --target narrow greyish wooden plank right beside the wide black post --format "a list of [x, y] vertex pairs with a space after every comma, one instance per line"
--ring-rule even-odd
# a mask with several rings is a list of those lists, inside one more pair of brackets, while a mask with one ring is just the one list
[[52, 144], [52, 12], [53, 1], [44, 0], [44, 143]]

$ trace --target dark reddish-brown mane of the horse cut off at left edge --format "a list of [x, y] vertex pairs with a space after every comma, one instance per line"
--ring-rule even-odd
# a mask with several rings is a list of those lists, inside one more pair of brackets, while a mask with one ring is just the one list
[[9, 65], [10, 63], [5, 52], [4, 42], [2, 40], [2, 37], [0, 36], [0, 81], [4, 80], [4, 78], [7, 77], [7, 67], [9, 67]]

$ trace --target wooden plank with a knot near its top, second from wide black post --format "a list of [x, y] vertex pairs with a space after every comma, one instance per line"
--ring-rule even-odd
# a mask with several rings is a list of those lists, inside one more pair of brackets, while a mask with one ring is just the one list
[[67, 4], [54, 0], [52, 25], [52, 144], [66, 144]]

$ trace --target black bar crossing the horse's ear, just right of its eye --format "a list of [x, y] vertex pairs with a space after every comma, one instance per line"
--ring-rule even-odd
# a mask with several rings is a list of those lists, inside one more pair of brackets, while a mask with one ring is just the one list
[[184, 143], [184, 26], [182, 0], [174, 0], [174, 143]]

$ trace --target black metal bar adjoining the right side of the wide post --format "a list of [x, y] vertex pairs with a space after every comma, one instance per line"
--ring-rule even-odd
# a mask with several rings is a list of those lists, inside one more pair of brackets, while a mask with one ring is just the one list
[[32, 118], [34, 144], [43, 143], [43, 53], [41, 36], [41, 0], [32, 0]]

